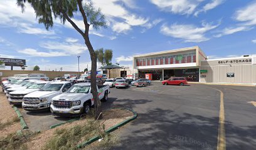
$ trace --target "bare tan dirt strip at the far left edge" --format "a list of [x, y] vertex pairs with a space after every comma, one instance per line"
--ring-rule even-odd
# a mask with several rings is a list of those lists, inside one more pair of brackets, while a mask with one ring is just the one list
[[21, 129], [17, 114], [11, 106], [4, 93], [0, 92], [0, 138]]

